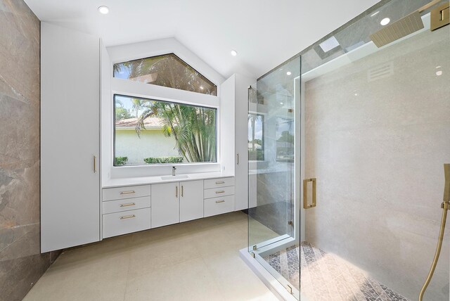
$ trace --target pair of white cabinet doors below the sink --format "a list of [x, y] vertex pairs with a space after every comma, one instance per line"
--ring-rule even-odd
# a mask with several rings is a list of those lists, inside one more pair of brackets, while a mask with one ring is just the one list
[[152, 185], [151, 226], [203, 217], [203, 180]]

